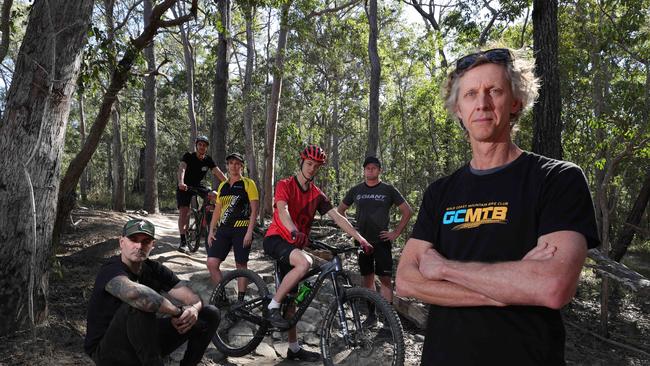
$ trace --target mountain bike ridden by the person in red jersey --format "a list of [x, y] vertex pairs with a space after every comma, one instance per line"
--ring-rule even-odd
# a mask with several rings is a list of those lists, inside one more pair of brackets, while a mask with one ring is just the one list
[[[289, 319], [290, 327], [300, 321], [312, 300], [324, 289], [324, 283], [329, 280], [332, 300], [320, 325], [323, 363], [403, 365], [404, 334], [395, 309], [377, 292], [353, 287], [350, 278], [343, 271], [339, 255], [358, 251], [359, 248], [337, 248], [323, 242], [313, 242], [311, 247], [330, 252], [332, 259], [311, 269], [301, 279], [298, 295], [287, 296], [283, 301], [282, 309], [285, 312], [290, 301], [301, 300], [298, 301], [294, 316]], [[276, 262], [275, 288], [281, 280], [279, 268]], [[310, 279], [311, 277], [315, 279]], [[311, 290], [303, 291], [305, 286]], [[301, 299], [301, 296], [304, 298]], [[266, 283], [255, 272], [247, 269], [228, 272], [210, 297], [210, 303], [219, 309], [222, 319], [217, 334], [212, 339], [214, 345], [226, 356], [239, 357], [255, 350], [266, 335], [288, 330], [275, 328], [265, 319], [271, 298]], [[308, 317], [315, 316], [322, 315], [311, 308]]]

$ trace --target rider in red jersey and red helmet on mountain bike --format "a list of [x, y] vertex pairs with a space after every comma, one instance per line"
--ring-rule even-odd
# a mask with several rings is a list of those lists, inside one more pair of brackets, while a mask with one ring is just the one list
[[[288, 328], [289, 322], [280, 313], [280, 304], [307, 274], [312, 259], [302, 249], [309, 245], [309, 231], [318, 211], [328, 214], [343, 231], [348, 233], [366, 253], [372, 252], [372, 245], [357, 232], [350, 222], [331, 204], [325, 194], [313, 183], [320, 167], [325, 164], [326, 155], [316, 145], [307, 146], [300, 153], [298, 173], [279, 181], [275, 187], [273, 221], [266, 231], [264, 252], [279, 262], [284, 278], [269, 304], [268, 319], [278, 328]], [[292, 316], [295, 306], [290, 304], [287, 316]], [[289, 350], [287, 359], [315, 362], [320, 355], [300, 347], [296, 327], [289, 329]]]

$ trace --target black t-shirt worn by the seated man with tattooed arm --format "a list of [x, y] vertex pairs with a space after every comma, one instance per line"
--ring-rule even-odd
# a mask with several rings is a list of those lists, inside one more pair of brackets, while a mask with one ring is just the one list
[[122, 305], [122, 300], [105, 290], [106, 284], [117, 276], [127, 276], [131, 281], [145, 285], [156, 292], [167, 292], [180, 282], [180, 279], [169, 268], [150, 259], [143, 262], [142, 272], [137, 275], [129, 270], [120, 256], [109, 258], [97, 274], [95, 287], [88, 302], [84, 350], [89, 355], [101, 341], [113, 315]]

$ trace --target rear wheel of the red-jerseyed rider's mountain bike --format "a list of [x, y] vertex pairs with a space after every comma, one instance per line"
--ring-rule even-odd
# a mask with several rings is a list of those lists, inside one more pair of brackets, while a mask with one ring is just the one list
[[[245, 288], [243, 298], [239, 288]], [[264, 310], [268, 304], [264, 280], [247, 269], [226, 273], [212, 292], [210, 304], [221, 314], [221, 323], [212, 343], [226, 356], [244, 356], [262, 342], [268, 329]]]

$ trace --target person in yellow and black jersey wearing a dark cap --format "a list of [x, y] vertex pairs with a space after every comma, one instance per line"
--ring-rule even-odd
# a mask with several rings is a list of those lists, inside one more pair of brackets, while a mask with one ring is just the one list
[[228, 179], [217, 188], [217, 204], [210, 221], [206, 248], [208, 271], [215, 284], [221, 281], [219, 266], [228, 256], [230, 248], [235, 252], [237, 268], [247, 268], [260, 202], [255, 182], [242, 176], [244, 158], [232, 153], [226, 157], [226, 164]]

